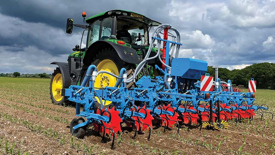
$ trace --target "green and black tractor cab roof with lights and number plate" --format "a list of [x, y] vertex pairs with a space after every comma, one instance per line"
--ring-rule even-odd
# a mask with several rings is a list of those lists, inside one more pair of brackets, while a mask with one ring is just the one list
[[86, 19], [87, 23], [92, 23], [95, 20], [103, 19], [111, 16], [117, 16], [117, 17], [126, 17], [126, 18], [134, 18], [136, 20], [139, 20], [141, 22], [144, 22], [145, 24], [152, 23], [154, 26], [158, 26], [161, 23], [151, 20], [150, 18], [145, 17], [144, 15], [134, 13], [132, 11], [125, 11], [125, 10], [110, 10], [103, 13], [99, 13], [97, 15], [94, 15], [92, 17], [89, 17]]

